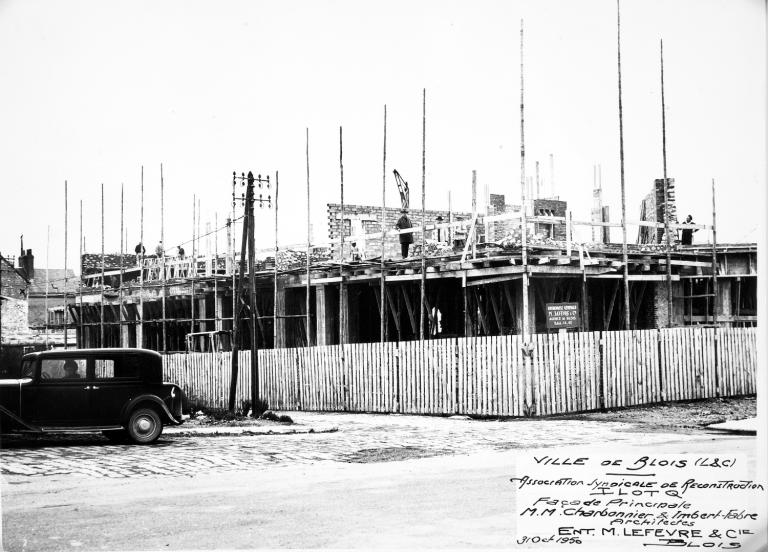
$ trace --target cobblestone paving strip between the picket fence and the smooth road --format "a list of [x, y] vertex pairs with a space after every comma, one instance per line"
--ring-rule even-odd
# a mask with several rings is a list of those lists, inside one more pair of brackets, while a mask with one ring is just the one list
[[[6, 476], [196, 476], [319, 462], [378, 462], [483, 451], [602, 443], [648, 444], [692, 437], [639, 433], [633, 424], [579, 420], [479, 421], [374, 414], [289, 413], [287, 434], [201, 435], [184, 426], [148, 447], [100, 435], [4, 438]], [[312, 432], [309, 432], [312, 430]], [[700, 435], [700, 431], [696, 432]]]

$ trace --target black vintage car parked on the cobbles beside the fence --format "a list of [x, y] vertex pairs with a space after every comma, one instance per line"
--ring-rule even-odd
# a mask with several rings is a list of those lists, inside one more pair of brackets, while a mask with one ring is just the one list
[[[13, 379], [0, 379], [0, 432], [101, 431], [152, 443], [180, 424], [182, 392], [163, 383], [162, 357], [142, 349], [30, 353]], [[6, 376], [7, 378], [7, 376]]]

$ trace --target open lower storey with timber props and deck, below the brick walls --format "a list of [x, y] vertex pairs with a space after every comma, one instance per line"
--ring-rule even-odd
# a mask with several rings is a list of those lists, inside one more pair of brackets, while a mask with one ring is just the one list
[[[756, 254], [755, 244], [717, 245], [714, 293], [711, 245], [675, 246], [669, 255], [663, 246], [628, 245], [629, 328], [754, 325]], [[211, 336], [226, 336], [232, 330], [232, 277], [227, 267], [236, 263], [225, 263], [221, 257], [220, 262], [177, 265], [164, 274], [145, 266], [143, 278], [139, 267], [128, 267], [122, 287], [117, 288], [109, 287], [116, 283], [114, 271], [85, 276], [83, 293], [68, 301], [78, 346], [162, 351], [165, 342], [166, 351], [211, 350]], [[589, 249], [529, 245], [527, 266], [519, 247], [479, 245], [475, 258], [459, 253], [426, 257], [423, 265], [420, 257], [384, 263], [377, 257], [312, 262], [308, 271], [302, 263], [281, 270], [261, 268], [253, 276], [255, 301], [249, 297], [244, 301], [256, 311], [257, 346], [263, 349], [418, 339], [421, 316], [426, 339], [515, 335], [523, 325], [523, 293], [528, 294], [529, 327], [536, 333], [547, 332], [548, 303], [578, 303], [578, 330], [627, 326], [622, 251], [617, 244], [593, 244]], [[245, 278], [249, 289], [250, 276]], [[103, 294], [102, 283], [107, 284]], [[250, 318], [241, 324], [241, 346], [249, 348]], [[223, 349], [229, 345], [226, 338], [217, 343]]]

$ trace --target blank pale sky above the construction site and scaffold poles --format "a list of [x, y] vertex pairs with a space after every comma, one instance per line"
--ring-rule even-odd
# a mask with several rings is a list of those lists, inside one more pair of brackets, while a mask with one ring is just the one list
[[[714, 179], [718, 242], [762, 236], [765, 10], [758, 0], [621, 2], [628, 219], [663, 176], [663, 41], [679, 212], [711, 223]], [[618, 221], [615, 1], [0, 0], [0, 252], [18, 255], [23, 234], [37, 267], [62, 268], [66, 234], [76, 267], [81, 202], [85, 249], [100, 252], [102, 185], [105, 249], [120, 250], [122, 190], [132, 251], [142, 167], [144, 243], [154, 250], [161, 164], [168, 248], [191, 251], [196, 202], [201, 230], [224, 227], [233, 171], [279, 180], [279, 241], [302, 244], [307, 133], [310, 220], [322, 241], [326, 204], [340, 199], [340, 129], [345, 203], [381, 204], [385, 106], [387, 205], [399, 205], [397, 169], [421, 206], [422, 117], [427, 208], [447, 208], [450, 194], [454, 210], [469, 211], [473, 170], [479, 190], [519, 203], [521, 22], [526, 174], [538, 161], [543, 191], [588, 220], [600, 165]], [[273, 246], [274, 224], [274, 209], [258, 210], [258, 248]]]

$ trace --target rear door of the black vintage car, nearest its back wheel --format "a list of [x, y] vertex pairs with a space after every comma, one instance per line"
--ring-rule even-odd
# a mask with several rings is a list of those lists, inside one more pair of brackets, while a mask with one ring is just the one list
[[120, 425], [123, 407], [141, 393], [135, 355], [96, 356], [91, 385], [91, 415], [98, 425]]

